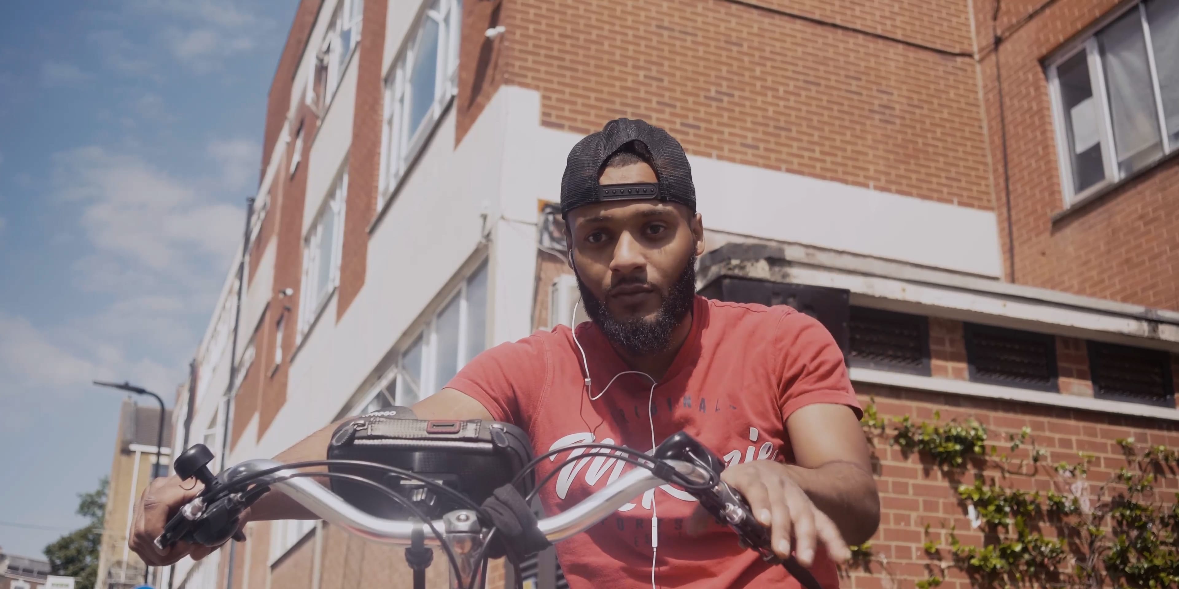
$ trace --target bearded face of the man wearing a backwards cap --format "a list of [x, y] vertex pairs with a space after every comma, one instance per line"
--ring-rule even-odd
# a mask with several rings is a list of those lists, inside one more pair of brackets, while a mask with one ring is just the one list
[[[654, 183], [644, 163], [606, 168], [599, 184]], [[632, 353], [667, 349], [691, 310], [700, 216], [679, 204], [619, 200], [569, 212], [578, 286], [586, 313]]]

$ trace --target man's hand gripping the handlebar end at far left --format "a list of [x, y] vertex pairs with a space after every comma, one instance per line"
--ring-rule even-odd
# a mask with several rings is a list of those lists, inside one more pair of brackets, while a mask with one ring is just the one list
[[[144, 489], [144, 494], [136, 505], [136, 517], [131, 523], [129, 544], [149, 567], [165, 567], [185, 556], [199, 561], [216, 550], [187, 542], [177, 542], [166, 550], [156, 548], [156, 538], [164, 532], [169, 519], [204, 489], [204, 485], [196, 481], [190, 481], [190, 483], [196, 484], [186, 485], [176, 475], [159, 477]], [[245, 524], [245, 514], [242, 516], [242, 524]]]

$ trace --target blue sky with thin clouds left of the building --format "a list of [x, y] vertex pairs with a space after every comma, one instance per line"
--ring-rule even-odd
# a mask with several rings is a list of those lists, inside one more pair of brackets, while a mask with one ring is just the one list
[[[131, 380], [171, 405], [261, 166], [297, 0], [11, 2], [0, 19], [0, 547], [84, 522]], [[55, 528], [38, 530], [12, 524]]]

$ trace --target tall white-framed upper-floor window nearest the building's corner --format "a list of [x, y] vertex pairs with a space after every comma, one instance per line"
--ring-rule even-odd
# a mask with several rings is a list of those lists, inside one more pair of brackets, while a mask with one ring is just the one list
[[433, 0], [386, 78], [377, 210], [457, 92], [462, 0]]

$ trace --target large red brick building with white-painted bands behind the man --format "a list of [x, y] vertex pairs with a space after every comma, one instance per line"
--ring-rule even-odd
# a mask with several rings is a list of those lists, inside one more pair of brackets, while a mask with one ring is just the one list
[[[699, 286], [843, 317], [882, 415], [1028, 426], [1054, 461], [1179, 445], [1175, 39], [1177, 0], [303, 0], [176, 443], [269, 457], [573, 320], [551, 203], [569, 147], [631, 117], [689, 152]], [[874, 544], [911, 587], [924, 523], [964, 508], [877, 458]], [[169, 582], [408, 587], [397, 550], [330, 525], [248, 536]]]

